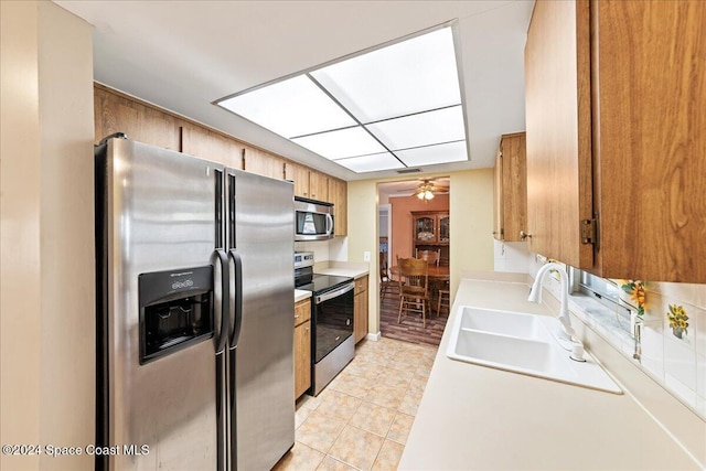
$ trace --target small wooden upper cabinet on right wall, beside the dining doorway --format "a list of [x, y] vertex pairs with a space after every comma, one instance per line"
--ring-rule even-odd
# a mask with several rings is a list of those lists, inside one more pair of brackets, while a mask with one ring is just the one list
[[499, 240], [523, 240], [527, 229], [527, 175], [525, 133], [504, 135], [495, 159], [495, 226]]

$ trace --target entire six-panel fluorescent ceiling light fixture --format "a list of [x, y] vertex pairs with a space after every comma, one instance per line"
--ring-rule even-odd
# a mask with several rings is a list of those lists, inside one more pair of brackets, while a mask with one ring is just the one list
[[449, 24], [216, 104], [354, 172], [468, 160]]

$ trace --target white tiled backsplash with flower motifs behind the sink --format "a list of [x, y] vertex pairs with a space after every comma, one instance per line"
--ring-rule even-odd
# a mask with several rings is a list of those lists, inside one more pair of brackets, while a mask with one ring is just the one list
[[[530, 275], [535, 277], [542, 265], [531, 255]], [[555, 297], [559, 296], [558, 280], [545, 280], [544, 286]], [[646, 281], [640, 361], [633, 358], [635, 341], [630, 335], [629, 320], [587, 296], [571, 296], [570, 300], [571, 311], [579, 311], [585, 323], [706, 418], [706, 285]], [[674, 304], [688, 315], [688, 328], [681, 339], [667, 319], [670, 306]]]

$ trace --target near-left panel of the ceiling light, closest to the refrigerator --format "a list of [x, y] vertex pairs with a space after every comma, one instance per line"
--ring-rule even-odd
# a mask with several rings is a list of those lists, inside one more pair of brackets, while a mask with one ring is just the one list
[[306, 75], [227, 98], [218, 105], [286, 138], [356, 125]]

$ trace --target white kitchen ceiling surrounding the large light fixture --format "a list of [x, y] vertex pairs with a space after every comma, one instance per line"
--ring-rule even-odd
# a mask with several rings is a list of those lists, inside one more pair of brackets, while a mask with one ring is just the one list
[[422, 170], [493, 167], [500, 136], [525, 128], [533, 0], [54, 1], [95, 26], [97, 82], [344, 180], [397, 172], [356, 174], [212, 103], [458, 19], [470, 161]]

